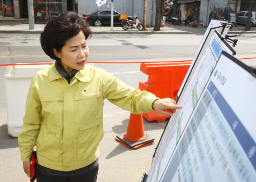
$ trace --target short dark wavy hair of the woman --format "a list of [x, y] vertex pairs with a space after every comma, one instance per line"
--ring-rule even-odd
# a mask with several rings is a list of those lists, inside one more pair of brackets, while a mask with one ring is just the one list
[[43, 51], [53, 60], [58, 60], [59, 58], [55, 56], [52, 50], [55, 48], [61, 52], [66, 41], [76, 36], [81, 30], [85, 39], [92, 36], [92, 31], [85, 18], [72, 11], [62, 13], [44, 27], [40, 36]]

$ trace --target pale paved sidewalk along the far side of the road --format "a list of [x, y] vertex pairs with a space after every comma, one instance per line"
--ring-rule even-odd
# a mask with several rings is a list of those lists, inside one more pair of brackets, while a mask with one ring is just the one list
[[[34, 29], [29, 29], [27, 21], [0, 21], [0, 33], [41, 33], [45, 24], [34, 24]], [[93, 34], [204, 34], [207, 27], [195, 28], [182, 25], [171, 25], [166, 23], [166, 27], [160, 28], [160, 31], [153, 31], [154, 27], [147, 27], [148, 31], [139, 31], [138, 29], [123, 30], [122, 27], [91, 27]], [[244, 31], [245, 26], [237, 25], [233, 27], [230, 33], [256, 33], [256, 27], [251, 27], [251, 31]]]

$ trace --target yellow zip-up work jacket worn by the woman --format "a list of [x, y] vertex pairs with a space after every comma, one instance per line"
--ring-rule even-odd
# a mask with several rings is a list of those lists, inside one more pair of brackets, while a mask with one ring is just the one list
[[38, 163], [44, 167], [70, 171], [93, 163], [103, 138], [104, 98], [135, 114], [152, 111], [157, 99], [99, 68], [86, 66], [70, 84], [55, 63], [37, 72], [18, 137], [22, 161], [30, 160], [36, 145]]

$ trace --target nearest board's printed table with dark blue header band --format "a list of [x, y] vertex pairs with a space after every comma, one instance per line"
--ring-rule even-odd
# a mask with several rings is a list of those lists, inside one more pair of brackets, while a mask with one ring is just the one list
[[255, 90], [256, 70], [223, 52], [159, 181], [255, 182]]

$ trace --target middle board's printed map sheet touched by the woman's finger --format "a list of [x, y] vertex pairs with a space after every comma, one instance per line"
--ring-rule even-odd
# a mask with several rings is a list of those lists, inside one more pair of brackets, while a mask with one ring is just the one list
[[208, 42], [207, 48], [201, 53], [200, 60], [197, 60], [197, 66], [193, 68], [193, 74], [189, 76], [189, 82], [186, 83], [186, 90], [183, 90], [177, 102], [178, 105], [182, 105], [182, 109], [176, 110], [176, 113], [170, 118], [157, 146], [156, 155], [149, 170], [147, 182], [159, 182], [163, 175], [222, 50], [230, 54], [234, 53], [231, 46], [225, 40], [219, 38], [217, 31], [213, 33], [213, 36], [208, 37], [206, 41]]

